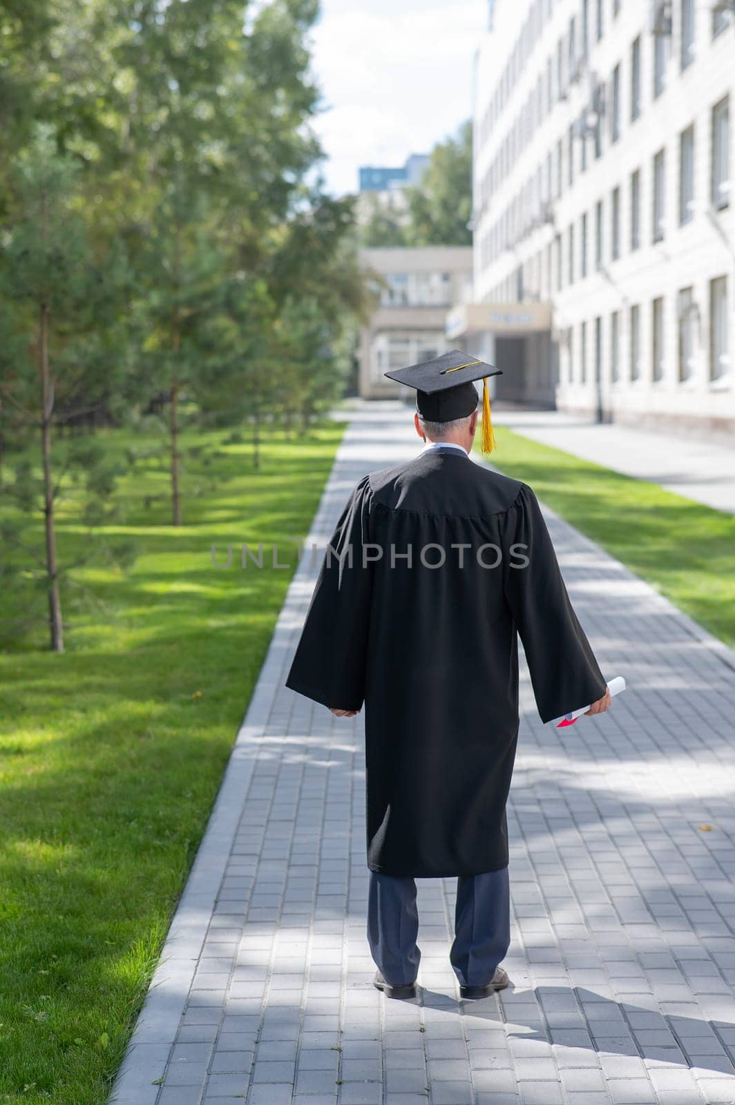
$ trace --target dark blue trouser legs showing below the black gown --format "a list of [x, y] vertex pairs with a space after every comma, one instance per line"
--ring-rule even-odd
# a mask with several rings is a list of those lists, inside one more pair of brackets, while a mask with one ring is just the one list
[[[367, 937], [370, 954], [386, 982], [414, 982], [421, 950], [416, 881], [370, 872]], [[460, 986], [484, 986], [511, 944], [508, 869], [459, 875], [454, 941], [449, 958]]]

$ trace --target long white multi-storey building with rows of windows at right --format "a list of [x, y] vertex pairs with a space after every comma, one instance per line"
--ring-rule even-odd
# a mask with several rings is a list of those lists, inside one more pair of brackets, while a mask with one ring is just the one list
[[732, 432], [735, 0], [496, 0], [491, 27], [453, 340], [517, 398]]

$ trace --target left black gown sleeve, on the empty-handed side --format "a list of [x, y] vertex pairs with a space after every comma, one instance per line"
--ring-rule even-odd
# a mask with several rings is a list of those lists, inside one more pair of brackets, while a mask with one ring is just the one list
[[[365, 698], [372, 567], [368, 476], [353, 490], [329, 539], [286, 686], [336, 709]], [[334, 550], [334, 551], [330, 551]]]

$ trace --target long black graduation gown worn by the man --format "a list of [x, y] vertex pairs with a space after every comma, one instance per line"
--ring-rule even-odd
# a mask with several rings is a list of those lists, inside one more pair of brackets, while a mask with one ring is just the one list
[[368, 869], [504, 867], [516, 631], [544, 722], [606, 687], [533, 491], [429, 450], [359, 481], [330, 549], [286, 686], [325, 706], [365, 704]]

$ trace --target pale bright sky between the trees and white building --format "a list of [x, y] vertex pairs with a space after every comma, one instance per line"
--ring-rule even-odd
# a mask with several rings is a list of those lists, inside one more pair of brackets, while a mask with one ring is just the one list
[[312, 71], [327, 191], [357, 191], [360, 165], [428, 154], [472, 114], [487, 0], [322, 0]]

